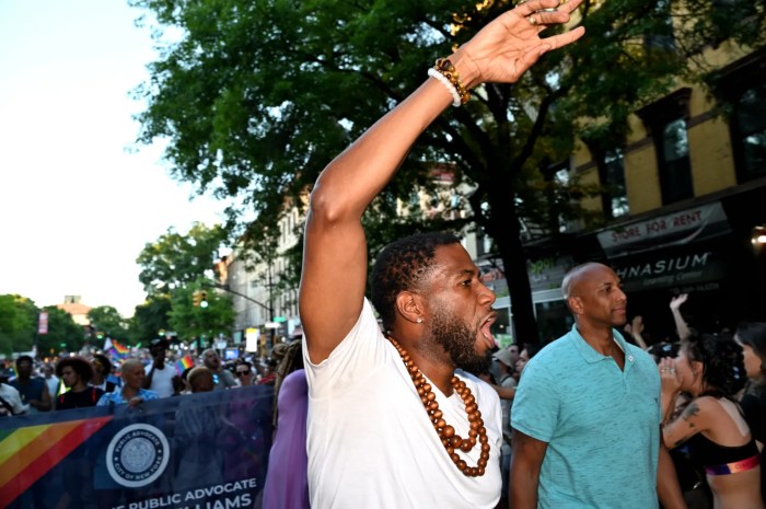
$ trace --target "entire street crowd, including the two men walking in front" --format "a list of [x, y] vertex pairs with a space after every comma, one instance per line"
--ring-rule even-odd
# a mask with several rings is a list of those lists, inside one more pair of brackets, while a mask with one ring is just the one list
[[328, 164], [305, 223], [305, 334], [280, 348], [282, 362], [255, 374], [246, 359], [229, 370], [206, 350], [199, 367], [174, 373], [160, 339], [147, 361], [121, 363], [112, 391], [97, 357], [60, 360], [55, 372], [69, 391], [51, 397], [50, 367], [34, 377], [33, 360], [20, 358], [10, 382], [18, 403], [26, 412], [138, 405], [274, 383], [268, 509], [764, 509], [766, 323], [700, 333], [683, 319], [689, 297], [680, 294], [670, 303], [676, 338], [648, 345], [643, 317], [628, 324], [615, 271], [585, 263], [561, 284], [569, 332], [542, 349], [498, 349], [495, 294], [446, 232], [378, 253], [367, 292], [362, 215], [417, 138], [472, 89], [514, 83], [579, 39], [582, 27], [539, 37], [579, 4], [519, 2], [437, 60]]

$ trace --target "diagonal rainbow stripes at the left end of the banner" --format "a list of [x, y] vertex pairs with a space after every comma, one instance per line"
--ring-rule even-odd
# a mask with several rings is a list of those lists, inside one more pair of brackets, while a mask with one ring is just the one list
[[112, 416], [0, 430], [0, 507], [92, 437]]

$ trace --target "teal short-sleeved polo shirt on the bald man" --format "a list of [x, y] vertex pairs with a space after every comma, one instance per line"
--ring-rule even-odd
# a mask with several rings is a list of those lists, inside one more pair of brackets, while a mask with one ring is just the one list
[[511, 426], [548, 443], [538, 509], [659, 507], [659, 370], [647, 352], [613, 334], [624, 370], [572, 326], [522, 373]]

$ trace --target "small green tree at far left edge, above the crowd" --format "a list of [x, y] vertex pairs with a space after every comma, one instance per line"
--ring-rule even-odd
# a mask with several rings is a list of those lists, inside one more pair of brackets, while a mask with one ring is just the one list
[[15, 294], [0, 296], [0, 352], [30, 351], [37, 332], [38, 309]]

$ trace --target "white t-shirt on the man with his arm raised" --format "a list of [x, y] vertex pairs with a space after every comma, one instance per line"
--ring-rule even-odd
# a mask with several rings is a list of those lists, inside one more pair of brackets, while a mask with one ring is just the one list
[[[477, 378], [457, 373], [476, 397], [490, 444], [480, 477], [457, 470], [433, 428], [394, 346], [365, 299], [348, 336], [318, 365], [307, 360], [309, 493], [312, 509], [491, 509], [500, 498], [500, 400]], [[457, 393], [433, 392], [446, 423], [468, 436]], [[459, 454], [476, 466], [477, 444]]]

